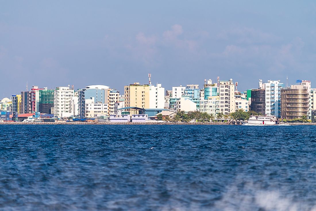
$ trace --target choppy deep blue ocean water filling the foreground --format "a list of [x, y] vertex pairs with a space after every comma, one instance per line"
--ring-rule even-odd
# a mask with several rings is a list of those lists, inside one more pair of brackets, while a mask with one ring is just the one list
[[316, 126], [0, 130], [0, 210], [316, 210]]

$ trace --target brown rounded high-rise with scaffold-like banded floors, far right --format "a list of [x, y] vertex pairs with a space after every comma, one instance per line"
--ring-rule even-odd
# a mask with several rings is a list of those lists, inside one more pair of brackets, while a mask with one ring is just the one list
[[307, 115], [309, 94], [304, 85], [291, 85], [281, 89], [281, 117], [295, 119]]

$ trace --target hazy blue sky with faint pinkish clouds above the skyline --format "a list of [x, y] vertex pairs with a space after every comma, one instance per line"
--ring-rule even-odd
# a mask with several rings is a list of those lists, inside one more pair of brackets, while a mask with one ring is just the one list
[[316, 83], [315, 1], [0, 0], [0, 98], [32, 85]]

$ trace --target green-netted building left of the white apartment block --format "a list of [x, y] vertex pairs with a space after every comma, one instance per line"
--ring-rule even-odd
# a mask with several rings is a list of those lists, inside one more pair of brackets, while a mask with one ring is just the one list
[[51, 114], [54, 107], [54, 90], [39, 90], [39, 112]]

